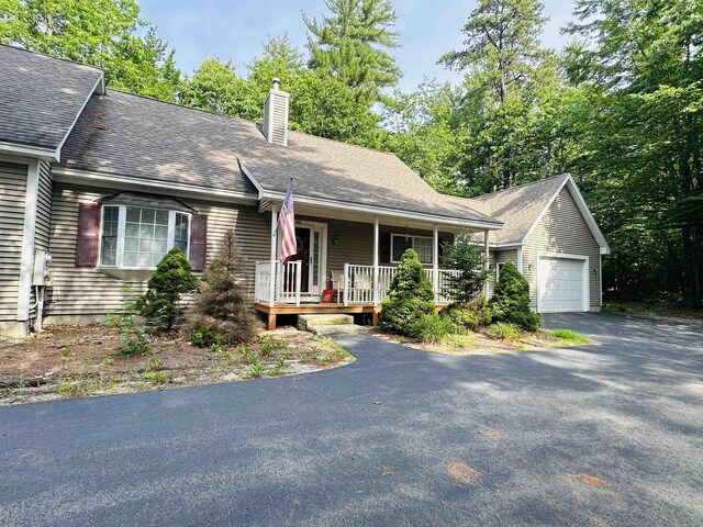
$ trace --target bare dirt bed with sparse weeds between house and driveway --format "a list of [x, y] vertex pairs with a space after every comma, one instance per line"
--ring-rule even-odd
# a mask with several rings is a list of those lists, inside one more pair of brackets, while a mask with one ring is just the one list
[[150, 352], [118, 352], [108, 325], [47, 326], [24, 340], [0, 340], [0, 405], [304, 373], [354, 358], [330, 339], [292, 327], [247, 346], [198, 348], [178, 329], [150, 339]]

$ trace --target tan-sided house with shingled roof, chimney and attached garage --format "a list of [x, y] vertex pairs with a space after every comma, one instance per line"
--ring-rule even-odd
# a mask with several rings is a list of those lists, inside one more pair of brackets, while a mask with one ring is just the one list
[[[108, 90], [100, 69], [8, 46], [0, 78], [2, 334], [120, 309], [171, 247], [202, 271], [228, 228], [271, 327], [281, 314], [376, 317], [408, 247], [449, 302], [440, 251], [460, 229], [542, 288], [536, 310], [601, 305], [607, 245], [569, 176], [443, 195], [391, 154], [289, 131], [276, 82], [256, 124]], [[291, 177], [300, 253], [281, 266]], [[330, 287], [334, 302], [321, 303]]]

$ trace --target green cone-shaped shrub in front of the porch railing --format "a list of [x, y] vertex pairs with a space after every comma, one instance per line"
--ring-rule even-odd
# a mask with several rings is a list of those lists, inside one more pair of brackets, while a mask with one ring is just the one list
[[398, 266], [388, 296], [381, 302], [379, 326], [384, 332], [413, 336], [423, 315], [435, 313], [434, 293], [417, 253], [408, 249]]

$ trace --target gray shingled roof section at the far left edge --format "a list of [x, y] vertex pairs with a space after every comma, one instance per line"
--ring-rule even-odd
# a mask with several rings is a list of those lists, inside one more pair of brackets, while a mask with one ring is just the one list
[[57, 148], [102, 72], [0, 45], [0, 142]]

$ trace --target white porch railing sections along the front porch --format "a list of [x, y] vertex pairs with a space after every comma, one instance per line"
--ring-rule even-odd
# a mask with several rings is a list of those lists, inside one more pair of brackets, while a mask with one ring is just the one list
[[[344, 305], [380, 303], [388, 295], [395, 272], [395, 267], [379, 266], [378, 287], [375, 288], [373, 266], [345, 264], [344, 279], [339, 284]], [[427, 273], [427, 279], [434, 285], [434, 269], [425, 269], [425, 272]], [[454, 300], [451, 278], [458, 276], [459, 271], [439, 269], [437, 272], [435, 302], [449, 303]], [[271, 294], [271, 283], [274, 283], [274, 294]], [[274, 280], [271, 280], [271, 262], [256, 262], [255, 296], [257, 302], [272, 301], [300, 305], [300, 261], [289, 261], [284, 266], [277, 261]]]

